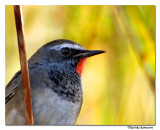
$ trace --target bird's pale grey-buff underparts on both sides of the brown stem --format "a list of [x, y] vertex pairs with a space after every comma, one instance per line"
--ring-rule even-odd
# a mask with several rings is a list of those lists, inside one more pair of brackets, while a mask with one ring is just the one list
[[[34, 89], [32, 108], [35, 125], [73, 125], [79, 115], [81, 102], [64, 100], [49, 88]], [[6, 125], [24, 124], [23, 97], [22, 93], [18, 93], [6, 104]]]

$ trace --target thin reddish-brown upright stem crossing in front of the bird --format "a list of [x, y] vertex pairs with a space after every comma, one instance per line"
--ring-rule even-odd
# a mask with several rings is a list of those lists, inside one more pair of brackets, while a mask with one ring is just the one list
[[25, 107], [26, 125], [33, 125], [32, 101], [30, 91], [30, 81], [28, 72], [28, 62], [25, 49], [25, 37], [23, 28], [23, 17], [20, 5], [14, 5], [14, 15], [18, 38], [19, 57], [21, 64], [22, 88]]

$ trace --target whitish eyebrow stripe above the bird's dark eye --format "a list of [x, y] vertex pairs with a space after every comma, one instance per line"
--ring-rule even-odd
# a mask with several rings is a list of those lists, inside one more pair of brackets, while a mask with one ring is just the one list
[[64, 47], [68, 47], [68, 48], [72, 48], [72, 49], [78, 49], [78, 50], [84, 50], [85, 49], [84, 47], [81, 47], [79, 45], [72, 45], [72, 44], [68, 44], [68, 43], [63, 43], [63, 44], [60, 44], [60, 45], [56, 45], [56, 46], [51, 47], [50, 49], [51, 50], [60, 50], [61, 48], [64, 48]]

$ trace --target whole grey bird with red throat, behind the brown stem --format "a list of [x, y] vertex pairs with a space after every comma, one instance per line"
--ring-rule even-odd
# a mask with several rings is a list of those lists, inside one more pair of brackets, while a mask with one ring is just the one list
[[[81, 76], [88, 57], [104, 53], [87, 50], [66, 39], [51, 41], [28, 60], [34, 125], [74, 125], [81, 110]], [[5, 87], [6, 125], [25, 125], [21, 71]]]

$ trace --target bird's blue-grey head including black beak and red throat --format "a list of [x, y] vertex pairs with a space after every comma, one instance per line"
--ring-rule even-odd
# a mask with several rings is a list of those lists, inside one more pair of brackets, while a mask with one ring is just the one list
[[[66, 39], [58, 39], [45, 44], [37, 51], [41, 59], [47, 64], [60, 68], [70, 68], [81, 76], [88, 57], [104, 53], [102, 50], [87, 50], [81, 45]], [[67, 69], [66, 69], [67, 71]]]

